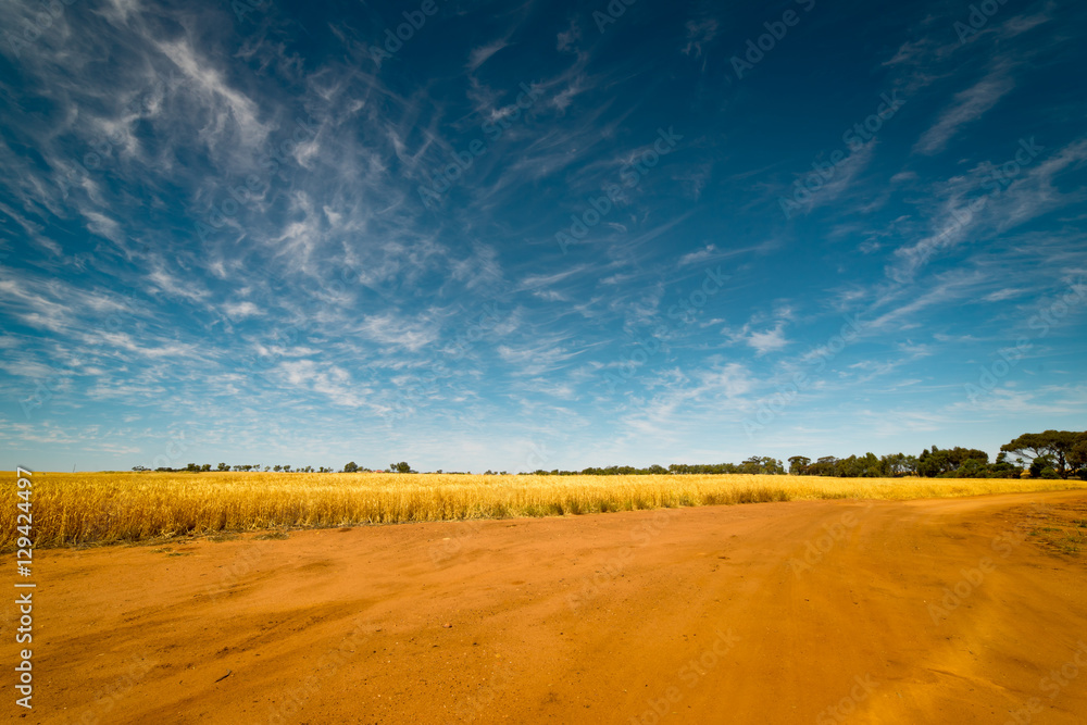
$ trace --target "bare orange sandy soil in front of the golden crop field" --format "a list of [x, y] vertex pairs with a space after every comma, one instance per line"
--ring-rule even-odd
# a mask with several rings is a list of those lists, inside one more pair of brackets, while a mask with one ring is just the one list
[[1084, 723], [1087, 553], [1029, 535], [1083, 518], [1073, 491], [39, 551], [35, 708], [13, 704], [8, 665], [2, 708], [88, 724]]

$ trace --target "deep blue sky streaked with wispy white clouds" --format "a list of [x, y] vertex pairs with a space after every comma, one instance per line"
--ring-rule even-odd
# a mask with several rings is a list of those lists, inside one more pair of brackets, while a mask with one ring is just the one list
[[9, 468], [1087, 427], [1075, 3], [51, 8], [0, 8]]

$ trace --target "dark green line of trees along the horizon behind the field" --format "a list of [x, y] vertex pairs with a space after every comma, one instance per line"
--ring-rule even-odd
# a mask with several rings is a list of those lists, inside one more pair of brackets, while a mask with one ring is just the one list
[[[877, 457], [875, 453], [850, 455], [839, 459], [824, 455], [812, 459], [804, 455], [794, 455], [788, 459], [788, 468], [780, 460], [752, 455], [741, 463], [673, 463], [667, 467], [653, 464], [639, 468], [629, 465], [612, 465], [608, 467], [583, 468], [582, 471], [545, 471], [538, 468], [530, 475], [537, 476], [638, 476], [664, 474], [754, 474], [754, 475], [794, 475], [794, 476], [833, 476], [839, 478], [896, 478], [900, 476], [922, 476], [928, 478], [1069, 478], [1078, 476], [1087, 480], [1087, 432], [1046, 430], [1044, 433], [1025, 433], [1000, 447], [996, 461], [989, 461], [989, 454], [976, 448], [938, 448], [933, 446], [917, 455], [890, 453]], [[373, 471], [350, 461], [340, 471], [320, 466], [291, 468], [290, 465], [241, 464], [227, 465], [220, 463], [215, 471], [263, 471], [275, 473], [418, 473], [405, 461], [390, 463], [386, 470]], [[151, 471], [137, 465], [133, 471]], [[160, 467], [154, 471], [168, 473], [204, 473], [212, 471], [210, 463], [189, 463], [184, 468]], [[460, 474], [457, 471], [435, 473]], [[486, 471], [483, 475], [507, 475], [495, 471]]]

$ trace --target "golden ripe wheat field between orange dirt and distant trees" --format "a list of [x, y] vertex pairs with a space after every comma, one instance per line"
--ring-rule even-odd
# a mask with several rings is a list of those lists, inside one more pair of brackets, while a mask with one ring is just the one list
[[[11, 474], [14, 478], [14, 474]], [[802, 499], [913, 499], [1087, 488], [1078, 480], [382, 473], [36, 473], [38, 547], [216, 532], [559, 516]], [[17, 537], [14, 487], [0, 550]], [[25, 523], [25, 522], [21, 522]]]

